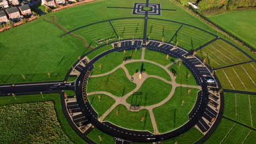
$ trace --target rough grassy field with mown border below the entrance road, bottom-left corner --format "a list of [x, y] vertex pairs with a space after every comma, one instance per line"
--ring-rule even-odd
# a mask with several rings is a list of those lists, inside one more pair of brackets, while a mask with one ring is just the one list
[[[39, 101], [44, 103], [38, 105]], [[50, 103], [50, 106], [47, 106], [45, 104], [49, 102], [46, 101], [53, 101], [54, 105]], [[35, 143], [42, 143], [42, 141], [50, 143], [86, 143], [73, 131], [63, 115], [59, 94], [43, 94], [43, 98], [42, 95], [22, 95], [16, 96], [16, 99], [14, 97], [1, 97], [0, 105], [2, 107], [1, 119], [7, 118], [6, 121], [0, 123], [1, 125], [4, 124], [4, 126], [1, 126], [2, 133], [0, 135], [2, 135], [2, 138], [0, 141], [3, 141], [1, 143], [19, 143], [21, 141], [26, 143], [28, 139], [34, 140]], [[3, 107], [8, 107], [8, 110], [4, 110]], [[10, 107], [13, 107], [11, 109], [14, 110], [11, 111]], [[21, 119], [22, 121], [20, 121]], [[37, 128], [41, 130], [38, 131]], [[55, 136], [55, 139], [51, 136]], [[37, 138], [35, 139], [35, 137]]]

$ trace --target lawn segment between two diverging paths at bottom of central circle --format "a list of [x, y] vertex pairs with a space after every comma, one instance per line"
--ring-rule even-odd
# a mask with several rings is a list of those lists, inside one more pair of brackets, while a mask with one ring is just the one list
[[[118, 116], [116, 114], [117, 110]], [[141, 122], [142, 117], [145, 118], [143, 122]], [[154, 132], [148, 110], [131, 112], [127, 110], [124, 105], [118, 105], [112, 112], [109, 113], [104, 121], [109, 121], [127, 129], [148, 130], [152, 133]]]

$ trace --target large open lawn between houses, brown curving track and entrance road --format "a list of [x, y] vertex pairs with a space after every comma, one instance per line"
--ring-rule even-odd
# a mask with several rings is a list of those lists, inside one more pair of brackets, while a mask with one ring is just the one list
[[[60, 38], [62, 33], [43, 17], [1, 33], [0, 83], [63, 80], [78, 56], [89, 49], [71, 35]], [[20, 42], [10, 43], [15, 37]]]

